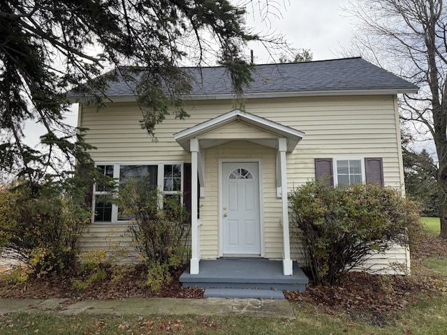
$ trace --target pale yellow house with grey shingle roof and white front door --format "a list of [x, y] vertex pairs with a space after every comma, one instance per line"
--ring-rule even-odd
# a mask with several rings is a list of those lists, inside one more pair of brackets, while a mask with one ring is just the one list
[[[397, 94], [416, 93], [415, 85], [360, 57], [258, 65], [241, 111], [226, 69], [201, 71], [186, 97], [190, 117], [164, 120], [158, 142], [140, 128], [133, 89], [122, 80], [110, 83], [105, 109], [80, 103], [78, 120], [105, 174], [145, 170], [166, 195], [186, 193], [191, 276], [203, 261], [221, 258], [281, 260], [282, 275], [293, 275], [302, 255], [290, 242], [287, 193], [318, 175], [404, 192]], [[94, 193], [97, 199], [101, 190]], [[94, 206], [85, 248], [120, 239], [126, 229], [115, 205]], [[405, 247], [391, 256], [409, 265]], [[376, 267], [389, 262], [375, 257], [369, 262]]]

